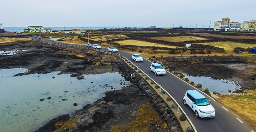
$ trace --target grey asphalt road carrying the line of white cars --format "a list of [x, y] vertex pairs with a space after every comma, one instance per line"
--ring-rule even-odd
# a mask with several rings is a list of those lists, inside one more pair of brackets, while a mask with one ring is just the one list
[[[42, 40], [56, 43], [52, 40]], [[58, 42], [59, 43], [59, 42]], [[85, 45], [79, 45], [85, 46]], [[106, 48], [101, 50], [107, 51]], [[125, 56], [130, 61], [132, 60], [132, 53], [118, 51], [120, 56]], [[132, 61], [133, 64], [139, 67], [144, 73], [148, 74], [155, 82], [161, 85], [165, 91], [171, 94], [177, 101], [180, 107], [184, 110], [185, 114], [189, 117], [192, 125], [197, 132], [256, 132], [249, 124], [247, 124], [241, 117], [232, 112], [228, 107], [224, 106], [217, 100], [206, 95], [205, 93], [197, 90], [186, 81], [180, 79], [171, 72], [166, 72], [166, 75], [156, 76], [155, 73], [149, 71], [151, 61], [144, 58], [143, 62]], [[195, 82], [197, 83], [197, 82]], [[192, 109], [183, 104], [183, 97], [187, 90], [196, 89], [210, 100], [210, 104], [215, 108], [215, 117], [210, 119], [197, 118]]]

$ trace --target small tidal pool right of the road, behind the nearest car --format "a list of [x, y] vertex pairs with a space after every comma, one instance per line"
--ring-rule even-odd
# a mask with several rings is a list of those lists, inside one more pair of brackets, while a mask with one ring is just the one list
[[[202, 84], [203, 88], [208, 88], [209, 91], [217, 91], [219, 93], [231, 93], [237, 89], [240, 89], [241, 86], [238, 81], [230, 81], [225, 79], [212, 79], [211, 77], [205, 76], [187, 76], [190, 81], [194, 81], [195, 84]], [[231, 90], [231, 92], [229, 92]]]

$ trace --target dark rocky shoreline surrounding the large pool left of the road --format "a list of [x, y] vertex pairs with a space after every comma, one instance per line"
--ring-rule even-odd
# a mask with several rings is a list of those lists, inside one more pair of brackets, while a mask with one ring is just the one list
[[[119, 71], [126, 80], [131, 81], [130, 86], [121, 90], [107, 91], [105, 97], [71, 115], [54, 118], [37, 132], [53, 132], [73, 119], [75, 119], [75, 123], [73, 122], [75, 127], [72, 129], [64, 127], [61, 129], [62, 132], [109, 132], [113, 126], [128, 126], [141, 105], [151, 107], [152, 112], [158, 112], [159, 118], [163, 119], [160, 122], [151, 122], [148, 126], [150, 132], [168, 132], [171, 131], [171, 127], [177, 132], [182, 132], [179, 122], [166, 104], [152, 89], [150, 90], [150, 86], [141, 76], [117, 56], [79, 47], [49, 45], [38, 41], [27, 41], [17, 45], [7, 44], [1, 49], [6, 51], [21, 49], [21, 52], [15, 55], [0, 56], [2, 62], [0, 69], [17, 67], [28, 69], [28, 72], [16, 76], [60, 71], [59, 74], [69, 73], [72, 77], [83, 79], [83, 74]], [[132, 79], [131, 74], [133, 74]], [[165, 121], [168, 123], [166, 127], [164, 127]]]

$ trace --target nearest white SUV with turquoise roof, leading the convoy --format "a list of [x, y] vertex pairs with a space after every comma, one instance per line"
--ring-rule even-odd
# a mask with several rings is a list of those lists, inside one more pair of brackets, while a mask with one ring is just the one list
[[183, 104], [188, 105], [194, 112], [196, 117], [213, 118], [215, 117], [215, 109], [209, 103], [203, 94], [196, 90], [188, 90], [183, 97]]

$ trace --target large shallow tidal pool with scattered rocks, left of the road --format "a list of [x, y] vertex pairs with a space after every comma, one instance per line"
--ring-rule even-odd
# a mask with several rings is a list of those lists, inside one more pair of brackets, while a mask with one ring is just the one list
[[106, 91], [130, 85], [118, 72], [83, 75], [82, 80], [59, 72], [14, 76], [24, 72], [27, 69], [0, 70], [0, 132], [33, 132], [95, 102]]

